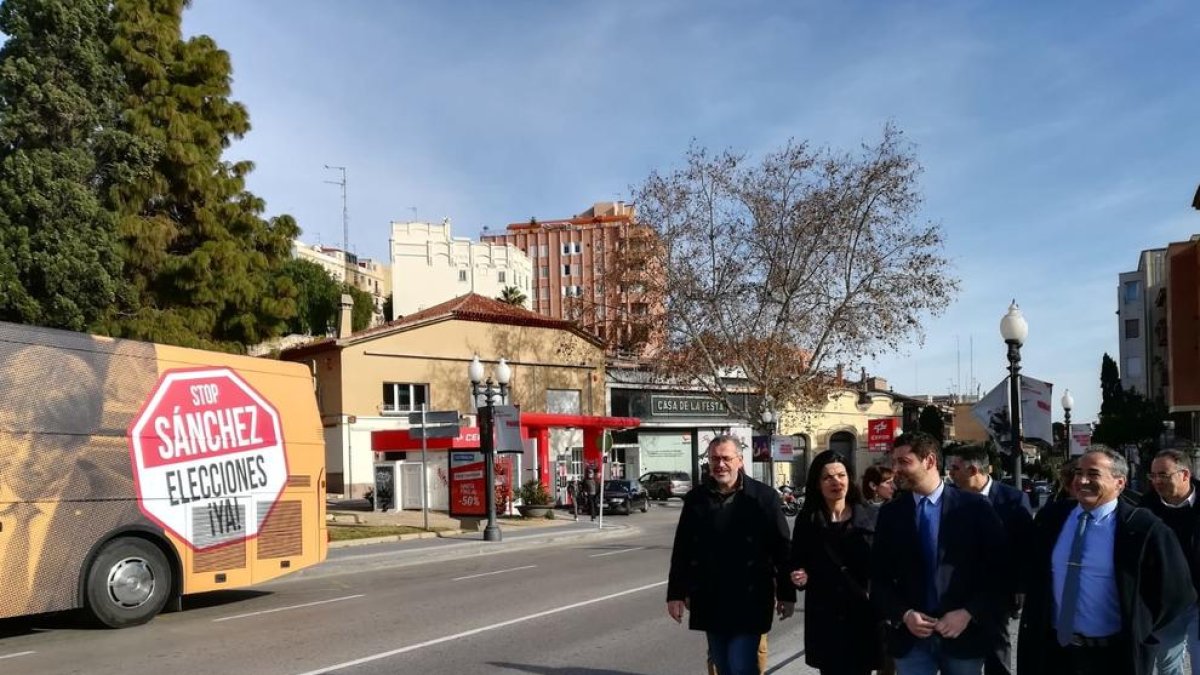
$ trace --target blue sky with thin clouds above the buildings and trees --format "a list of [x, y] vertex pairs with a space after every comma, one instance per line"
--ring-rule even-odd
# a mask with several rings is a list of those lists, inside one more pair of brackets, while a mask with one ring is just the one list
[[[233, 56], [253, 130], [228, 157], [306, 241], [386, 258], [389, 222], [456, 234], [628, 198], [689, 142], [853, 149], [888, 121], [925, 167], [924, 217], [962, 292], [924, 345], [865, 364], [902, 393], [1025, 372], [1099, 408], [1117, 274], [1200, 232], [1200, 12], [1186, 0], [197, 0], [185, 31]], [[1056, 410], [1055, 419], [1061, 417]]]

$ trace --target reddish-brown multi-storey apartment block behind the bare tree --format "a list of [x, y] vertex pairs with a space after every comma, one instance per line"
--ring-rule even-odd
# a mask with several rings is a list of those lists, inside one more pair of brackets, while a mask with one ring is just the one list
[[637, 317], [654, 311], [636, 283], [619, 283], [611, 264], [629, 241], [636, 210], [624, 202], [598, 202], [587, 211], [562, 220], [517, 222], [504, 232], [488, 232], [484, 241], [516, 246], [533, 263], [532, 309], [539, 313], [578, 321], [610, 351], [628, 351], [652, 342]]

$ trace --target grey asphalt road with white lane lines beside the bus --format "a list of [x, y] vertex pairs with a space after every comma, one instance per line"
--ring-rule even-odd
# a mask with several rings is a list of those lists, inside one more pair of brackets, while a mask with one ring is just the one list
[[[697, 675], [703, 635], [665, 611], [678, 513], [674, 502], [614, 516], [636, 527], [604, 537], [510, 537], [494, 555], [460, 543], [452, 560], [436, 560], [452, 542], [340, 549], [322, 567], [193, 597], [125, 631], [5, 620], [0, 673]], [[802, 622], [798, 611], [772, 632], [773, 671], [811, 673]]]

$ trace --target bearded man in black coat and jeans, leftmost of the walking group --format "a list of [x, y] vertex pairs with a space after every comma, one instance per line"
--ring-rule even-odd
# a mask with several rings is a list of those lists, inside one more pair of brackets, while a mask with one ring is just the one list
[[667, 578], [667, 614], [704, 631], [721, 675], [756, 675], [772, 615], [792, 615], [790, 538], [779, 492], [742, 471], [734, 436], [708, 446], [709, 477], [684, 497]]

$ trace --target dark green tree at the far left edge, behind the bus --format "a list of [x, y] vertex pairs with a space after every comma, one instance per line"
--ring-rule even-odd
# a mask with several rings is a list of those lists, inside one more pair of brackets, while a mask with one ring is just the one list
[[107, 0], [0, 5], [0, 319], [84, 330], [122, 293], [104, 189], [122, 100]]

